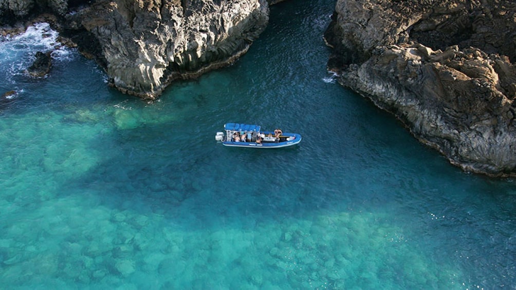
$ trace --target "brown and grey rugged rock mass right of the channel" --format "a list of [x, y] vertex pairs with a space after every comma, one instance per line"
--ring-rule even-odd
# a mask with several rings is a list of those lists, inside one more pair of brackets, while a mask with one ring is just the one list
[[464, 170], [516, 175], [516, 4], [338, 0], [339, 81]]

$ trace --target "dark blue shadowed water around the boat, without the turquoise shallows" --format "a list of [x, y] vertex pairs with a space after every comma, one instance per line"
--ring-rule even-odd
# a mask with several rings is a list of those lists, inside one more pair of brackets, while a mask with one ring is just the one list
[[[101, 122], [121, 124], [89, 144], [101, 152], [100, 163], [62, 184], [60, 196], [96, 195], [114, 212], [162, 215], [185, 232], [252, 230], [285, 219], [363, 213], [405, 229], [411, 245], [428, 256], [437, 253], [437, 264], [467, 254], [468, 262], [478, 264], [457, 263], [472, 276], [488, 272], [513, 282], [513, 183], [460, 172], [417, 143], [391, 115], [323, 82], [329, 53], [320, 37], [327, 22], [303, 16], [318, 7], [312, 2], [302, 9], [280, 5], [289, 10], [272, 8], [277, 10], [269, 28], [235, 65], [196, 80], [192, 88], [190, 82], [170, 88], [160, 103], [149, 105], [163, 106], [165, 115], [190, 112], [186, 117], [128, 126], [117, 113], [144, 112], [147, 105], [109, 92], [120, 104], [116, 109], [109, 104], [106, 115], [112, 120]], [[289, 17], [293, 11], [296, 18]], [[299, 46], [288, 42], [292, 31]], [[307, 49], [314, 43], [316, 49]], [[215, 77], [224, 82], [210, 83]], [[61, 110], [91, 103], [72, 105]], [[301, 133], [303, 141], [277, 150], [215, 142], [224, 123], [248, 120], [264, 129], [280, 125]]]

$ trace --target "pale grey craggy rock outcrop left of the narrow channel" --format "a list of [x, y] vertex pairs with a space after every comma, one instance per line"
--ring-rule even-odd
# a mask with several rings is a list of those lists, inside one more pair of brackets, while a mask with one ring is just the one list
[[171, 81], [245, 53], [267, 25], [268, 11], [266, 0], [99, 0], [69, 15], [65, 29], [82, 31], [82, 40], [99, 48], [90, 54], [112, 86], [153, 99]]

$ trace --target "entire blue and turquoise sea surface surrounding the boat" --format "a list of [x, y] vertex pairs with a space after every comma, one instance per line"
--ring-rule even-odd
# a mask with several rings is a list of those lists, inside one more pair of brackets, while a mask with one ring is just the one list
[[[467, 174], [326, 71], [332, 0], [271, 7], [154, 103], [56, 32], [0, 40], [1, 289], [514, 289], [516, 184]], [[225, 123], [295, 147], [224, 147]]]

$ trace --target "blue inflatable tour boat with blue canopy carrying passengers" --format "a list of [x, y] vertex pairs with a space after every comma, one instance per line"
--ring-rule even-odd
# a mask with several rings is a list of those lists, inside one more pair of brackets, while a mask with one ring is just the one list
[[301, 135], [284, 133], [281, 129], [261, 131], [259, 125], [228, 123], [224, 132], [217, 132], [215, 140], [231, 147], [281, 148], [298, 144]]

